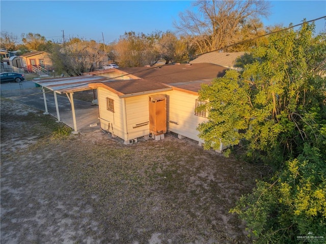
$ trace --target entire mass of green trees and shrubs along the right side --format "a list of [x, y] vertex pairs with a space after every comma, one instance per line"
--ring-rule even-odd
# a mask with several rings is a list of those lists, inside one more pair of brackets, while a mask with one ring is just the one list
[[271, 35], [242, 72], [203, 85], [199, 125], [205, 148], [247, 145], [247, 159], [274, 169], [231, 211], [255, 243], [298, 243], [326, 236], [326, 35], [314, 24]]

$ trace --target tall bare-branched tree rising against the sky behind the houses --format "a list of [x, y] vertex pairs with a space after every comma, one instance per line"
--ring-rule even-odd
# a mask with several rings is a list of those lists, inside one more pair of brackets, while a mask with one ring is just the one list
[[194, 7], [196, 11], [180, 13], [180, 22], [175, 26], [181, 34], [191, 37], [199, 52], [204, 53], [238, 41], [243, 25], [267, 16], [269, 4], [265, 1], [201, 0], [196, 1]]

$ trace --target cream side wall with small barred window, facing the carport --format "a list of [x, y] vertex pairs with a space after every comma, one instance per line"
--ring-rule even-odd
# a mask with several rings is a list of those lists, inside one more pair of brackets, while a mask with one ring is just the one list
[[[101, 128], [127, 140], [124, 123], [123, 99], [120, 99], [116, 94], [102, 87], [98, 87], [97, 96], [99, 101]], [[114, 112], [106, 109], [106, 98], [114, 100]]]

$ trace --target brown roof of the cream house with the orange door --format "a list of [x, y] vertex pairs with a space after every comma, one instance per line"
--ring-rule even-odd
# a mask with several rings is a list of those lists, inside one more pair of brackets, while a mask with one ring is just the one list
[[94, 88], [96, 86], [106, 87], [119, 96], [169, 90], [172, 89], [171, 87], [198, 92], [201, 83], [207, 83], [213, 78], [223, 76], [227, 69], [213, 64], [193, 64], [166, 65], [160, 68], [121, 68], [119, 70], [141, 79], [104, 81], [101, 85], [92, 84], [92, 86]]

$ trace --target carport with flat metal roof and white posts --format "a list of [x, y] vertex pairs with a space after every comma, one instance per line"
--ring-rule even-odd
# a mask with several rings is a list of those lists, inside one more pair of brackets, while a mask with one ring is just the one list
[[42, 88], [45, 114], [48, 114], [47, 103], [46, 103], [47, 92], [45, 91], [45, 89], [48, 89], [53, 92], [53, 96], [55, 98], [55, 104], [56, 104], [57, 118], [59, 122], [60, 122], [60, 112], [59, 112], [57, 94], [67, 95], [67, 98], [71, 104], [73, 127], [74, 127], [73, 133], [77, 134], [78, 131], [77, 131], [73, 94], [76, 92], [81, 92], [83, 90], [91, 90], [93, 88], [89, 87], [88, 85], [89, 83], [103, 82], [107, 79], [108, 79], [107, 77], [87, 75], [87, 76], [53, 78], [53, 79], [44, 79], [44, 80], [34, 79], [33, 82], [35, 82]]

